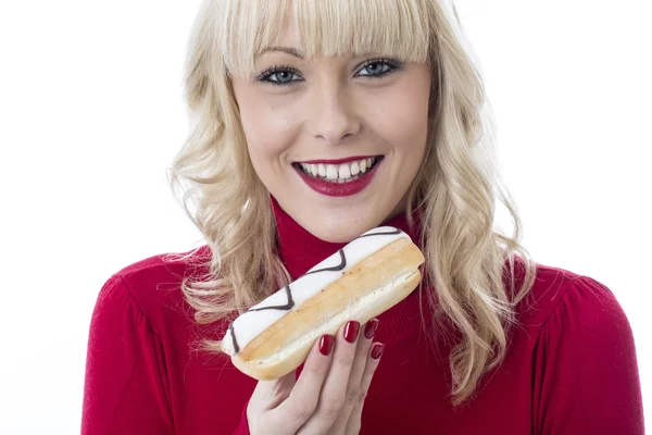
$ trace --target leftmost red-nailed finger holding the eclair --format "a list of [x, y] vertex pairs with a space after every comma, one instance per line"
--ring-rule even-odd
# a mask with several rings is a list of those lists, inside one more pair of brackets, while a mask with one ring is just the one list
[[331, 364], [334, 347], [333, 335], [324, 335], [315, 341], [290, 396], [271, 412], [275, 427], [287, 427], [293, 434], [315, 412]]

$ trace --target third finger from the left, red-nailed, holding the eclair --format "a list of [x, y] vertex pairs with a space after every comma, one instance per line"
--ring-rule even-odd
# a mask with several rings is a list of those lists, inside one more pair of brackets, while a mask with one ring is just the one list
[[366, 397], [366, 389], [362, 386], [362, 377], [369, 362], [369, 349], [374, 339], [374, 334], [378, 327], [378, 319], [372, 319], [363, 327], [359, 337], [358, 348], [355, 349], [355, 361], [349, 376], [349, 385], [344, 398], [344, 407], [339, 413], [335, 424], [331, 427], [334, 433], [341, 433], [347, 426], [349, 417], [353, 412], [353, 408], [363, 402]]

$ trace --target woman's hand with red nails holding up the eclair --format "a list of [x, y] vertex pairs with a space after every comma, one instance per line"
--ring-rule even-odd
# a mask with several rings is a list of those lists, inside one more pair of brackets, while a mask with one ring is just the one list
[[362, 407], [384, 345], [372, 344], [378, 320], [344, 324], [315, 341], [303, 371], [260, 381], [247, 407], [252, 435], [350, 435], [360, 432]]

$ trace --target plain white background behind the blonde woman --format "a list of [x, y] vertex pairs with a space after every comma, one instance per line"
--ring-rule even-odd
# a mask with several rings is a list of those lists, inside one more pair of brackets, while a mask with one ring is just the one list
[[[181, 69], [198, 5], [0, 3], [2, 434], [78, 433], [100, 287], [131, 262], [200, 244], [165, 178], [187, 134]], [[613, 289], [634, 328], [647, 405], [649, 8], [459, 0], [524, 243], [538, 262]]]

